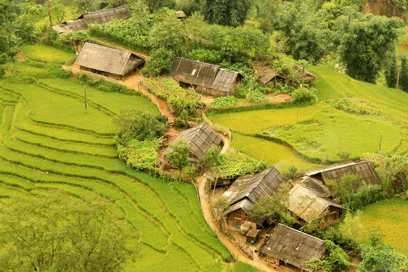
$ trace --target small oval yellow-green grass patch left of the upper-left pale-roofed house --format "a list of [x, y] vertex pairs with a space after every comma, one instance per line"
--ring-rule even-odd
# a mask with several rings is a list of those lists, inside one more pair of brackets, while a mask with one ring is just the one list
[[63, 64], [65, 61], [75, 57], [75, 53], [73, 52], [62, 51], [41, 43], [35, 45], [23, 45], [21, 46], [21, 49], [27, 58], [39, 62]]

